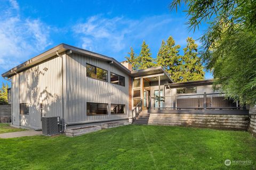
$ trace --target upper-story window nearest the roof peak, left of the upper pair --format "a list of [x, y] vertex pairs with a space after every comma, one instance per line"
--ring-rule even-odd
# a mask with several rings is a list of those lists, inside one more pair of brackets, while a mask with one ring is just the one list
[[86, 76], [102, 81], [108, 81], [108, 71], [86, 63]]

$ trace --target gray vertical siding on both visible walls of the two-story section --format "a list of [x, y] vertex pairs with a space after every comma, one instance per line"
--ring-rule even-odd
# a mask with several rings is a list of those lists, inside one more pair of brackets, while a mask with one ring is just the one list
[[[40, 129], [43, 116], [64, 114], [65, 123], [115, 120], [129, 117], [129, 75], [113, 64], [85, 55], [72, 53], [53, 57], [12, 77], [12, 122], [28, 128]], [[108, 71], [108, 82], [86, 77], [86, 63]], [[110, 83], [110, 72], [125, 77], [125, 87]], [[86, 103], [108, 104], [108, 115], [86, 115]], [[29, 104], [29, 114], [20, 115], [20, 103]], [[125, 114], [111, 115], [110, 104], [124, 104]], [[63, 112], [64, 108], [64, 112]]]

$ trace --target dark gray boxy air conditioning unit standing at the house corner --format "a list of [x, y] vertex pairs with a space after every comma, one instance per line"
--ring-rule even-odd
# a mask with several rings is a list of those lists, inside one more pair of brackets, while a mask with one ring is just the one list
[[60, 133], [60, 117], [42, 117], [42, 133], [52, 135]]

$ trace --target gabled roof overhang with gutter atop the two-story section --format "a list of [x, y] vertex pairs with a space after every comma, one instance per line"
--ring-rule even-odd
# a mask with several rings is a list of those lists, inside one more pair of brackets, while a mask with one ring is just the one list
[[66, 52], [67, 50], [72, 50], [72, 52], [75, 52], [75, 53], [78, 53], [78, 54], [82, 54], [82, 55], [86, 55], [86, 56], [90, 56], [90, 57], [97, 57], [101, 60], [108, 61], [110, 63], [113, 63], [117, 67], [119, 67], [119, 69], [123, 70], [125, 73], [131, 75], [130, 70], [128, 70], [125, 66], [123, 66], [121, 63], [119, 63], [118, 61], [116, 61], [112, 57], [108, 57], [108, 56], [101, 55], [101, 54], [98, 54], [98, 53], [90, 52], [89, 50], [85, 50], [85, 49], [82, 49], [82, 48], [77, 48], [77, 47], [70, 46], [70, 45], [62, 43], [58, 46], [55, 46], [55, 47], [47, 50], [44, 53], [39, 54], [39, 55], [31, 58], [30, 60], [14, 67], [13, 69], [3, 73], [2, 77], [11, 78], [13, 75], [15, 75], [19, 72], [22, 72], [22, 71], [28, 69], [31, 66], [34, 66], [34, 65], [36, 65], [38, 63], [41, 63], [41, 62], [43, 62], [43, 61], [45, 61], [45, 60], [47, 60], [51, 57], [56, 56], [57, 55], [56, 52], [58, 52], [60, 54], [62, 52]]

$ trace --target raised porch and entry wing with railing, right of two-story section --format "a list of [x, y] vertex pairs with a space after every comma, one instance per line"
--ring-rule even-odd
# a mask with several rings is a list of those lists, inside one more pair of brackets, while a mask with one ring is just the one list
[[162, 67], [133, 72], [133, 117], [143, 113], [235, 114], [249, 112], [212, 88], [213, 80], [174, 83]]

